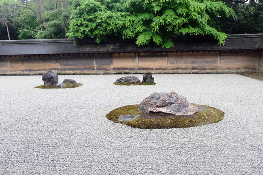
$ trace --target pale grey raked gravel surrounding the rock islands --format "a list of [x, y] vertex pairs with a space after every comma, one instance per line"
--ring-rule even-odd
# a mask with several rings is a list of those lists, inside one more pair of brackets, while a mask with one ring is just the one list
[[[59, 82], [83, 83], [68, 89], [34, 88], [43, 84], [42, 76], [0, 76], [0, 174], [263, 174], [262, 80], [156, 74], [156, 85], [114, 85], [121, 76], [60, 75]], [[187, 129], [142, 130], [105, 117], [153, 92], [171, 91], [224, 111], [224, 119]]]

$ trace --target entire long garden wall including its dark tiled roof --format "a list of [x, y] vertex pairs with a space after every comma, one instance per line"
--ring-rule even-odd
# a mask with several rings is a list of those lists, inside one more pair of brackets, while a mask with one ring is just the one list
[[179, 38], [171, 48], [134, 41], [74, 39], [0, 41], [0, 74], [203, 73], [263, 71], [263, 34], [230, 35], [224, 46]]

